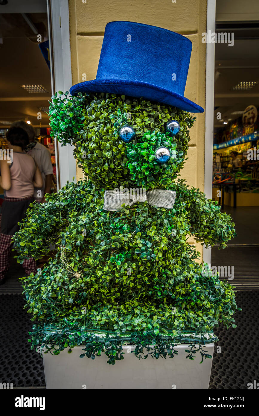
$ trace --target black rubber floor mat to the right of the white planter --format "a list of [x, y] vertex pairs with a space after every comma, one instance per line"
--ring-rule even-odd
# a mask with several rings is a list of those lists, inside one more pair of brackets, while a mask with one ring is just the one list
[[237, 327], [221, 325], [215, 331], [219, 342], [214, 349], [210, 389], [247, 389], [248, 383], [259, 381], [259, 292], [237, 292], [236, 300], [242, 308], [234, 314]]

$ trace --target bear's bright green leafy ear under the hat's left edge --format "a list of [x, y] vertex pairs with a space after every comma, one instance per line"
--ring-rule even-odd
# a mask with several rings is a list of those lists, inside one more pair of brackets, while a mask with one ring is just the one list
[[[59, 94], [59, 95], [58, 95]], [[50, 135], [55, 137], [62, 146], [78, 140], [84, 127], [84, 109], [88, 104], [86, 96], [79, 92], [77, 97], [68, 97], [69, 91], [52, 95], [49, 101]]]

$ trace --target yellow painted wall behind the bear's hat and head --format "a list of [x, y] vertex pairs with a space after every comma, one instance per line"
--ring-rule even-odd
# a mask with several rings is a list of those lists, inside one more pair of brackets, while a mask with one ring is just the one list
[[[86, 1], [86, 2], [85, 2]], [[104, 29], [113, 20], [129, 20], [164, 27], [192, 41], [185, 97], [205, 107], [207, 0], [69, 0], [73, 84], [95, 79]], [[188, 160], [181, 172], [187, 183], [204, 189], [205, 115], [197, 114], [190, 130]], [[82, 173], [77, 171], [77, 178]], [[200, 247], [199, 247], [200, 249]]]

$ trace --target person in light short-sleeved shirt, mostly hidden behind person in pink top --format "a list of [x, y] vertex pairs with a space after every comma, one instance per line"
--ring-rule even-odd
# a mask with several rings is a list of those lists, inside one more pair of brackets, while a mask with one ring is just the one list
[[34, 198], [38, 202], [45, 202], [45, 194], [50, 193], [53, 173], [50, 151], [36, 139], [35, 129], [31, 124], [20, 120], [12, 123], [11, 127], [21, 127], [29, 136], [30, 143], [25, 151], [34, 158], [43, 179], [42, 188], [34, 189]]

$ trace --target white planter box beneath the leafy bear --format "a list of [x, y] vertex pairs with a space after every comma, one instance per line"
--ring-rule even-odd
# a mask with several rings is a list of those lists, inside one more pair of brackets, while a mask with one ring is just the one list
[[[131, 346], [133, 349], [133, 346]], [[124, 359], [114, 365], [107, 364], [107, 356], [94, 360], [80, 358], [82, 347], [74, 347], [54, 356], [43, 354], [47, 389], [208, 389], [212, 359], [200, 364], [200, 353], [194, 360], [185, 359], [188, 344], [175, 347], [178, 355], [139, 360], [129, 354], [129, 346], [123, 346]], [[213, 356], [214, 344], [203, 347]], [[44, 351], [44, 350], [43, 350]]]

